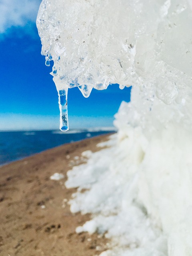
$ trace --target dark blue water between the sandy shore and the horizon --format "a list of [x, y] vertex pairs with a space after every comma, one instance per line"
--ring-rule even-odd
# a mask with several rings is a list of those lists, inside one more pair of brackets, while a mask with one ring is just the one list
[[107, 134], [111, 131], [70, 130], [0, 132], [0, 165], [65, 143]]

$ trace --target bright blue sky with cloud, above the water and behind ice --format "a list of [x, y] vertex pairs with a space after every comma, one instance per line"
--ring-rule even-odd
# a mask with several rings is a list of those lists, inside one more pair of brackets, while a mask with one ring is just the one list
[[[59, 128], [58, 95], [41, 56], [36, 29], [39, 0], [0, 2], [0, 130]], [[122, 100], [130, 100], [130, 88], [92, 90], [84, 98], [78, 88], [68, 92], [70, 128], [112, 126]]]

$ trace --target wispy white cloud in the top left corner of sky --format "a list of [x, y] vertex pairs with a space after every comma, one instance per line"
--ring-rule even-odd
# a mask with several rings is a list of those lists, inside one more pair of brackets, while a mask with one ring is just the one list
[[12, 26], [36, 21], [41, 0], [0, 0], [0, 33]]

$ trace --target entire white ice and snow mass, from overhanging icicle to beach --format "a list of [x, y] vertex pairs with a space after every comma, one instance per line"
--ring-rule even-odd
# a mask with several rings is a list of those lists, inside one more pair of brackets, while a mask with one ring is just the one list
[[68, 88], [132, 85], [110, 147], [68, 174], [88, 189], [71, 210], [93, 213], [77, 231], [106, 232], [102, 256], [192, 256], [192, 1], [43, 0], [37, 26], [61, 130]]

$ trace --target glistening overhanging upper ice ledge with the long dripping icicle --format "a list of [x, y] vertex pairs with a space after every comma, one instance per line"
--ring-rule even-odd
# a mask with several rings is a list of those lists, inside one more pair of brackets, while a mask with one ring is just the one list
[[[143, 113], [159, 98], [176, 103], [189, 120], [191, 6], [190, 0], [43, 0], [37, 27], [59, 96], [74, 86], [88, 97], [110, 83], [133, 85], [148, 100]], [[66, 106], [60, 110], [67, 130]]]

